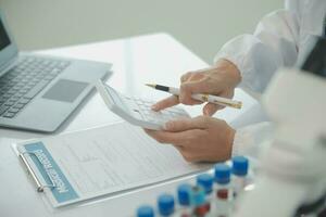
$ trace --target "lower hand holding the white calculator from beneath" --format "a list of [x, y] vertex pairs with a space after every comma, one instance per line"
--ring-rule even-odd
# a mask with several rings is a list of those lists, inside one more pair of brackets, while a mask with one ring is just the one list
[[164, 130], [145, 131], [161, 143], [172, 143], [188, 162], [217, 162], [231, 156], [236, 130], [209, 116], [167, 122]]

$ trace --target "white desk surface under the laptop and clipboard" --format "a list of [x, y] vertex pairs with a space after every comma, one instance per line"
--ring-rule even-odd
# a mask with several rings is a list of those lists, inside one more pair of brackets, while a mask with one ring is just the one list
[[[60, 48], [40, 53], [113, 63], [114, 74], [108, 84], [127, 94], [150, 99], [160, 99], [167, 94], [153, 91], [143, 84], [158, 82], [177, 87], [184, 73], [208, 67], [205, 62], [166, 34]], [[254, 100], [241, 90], [236, 91], [236, 99], [243, 101], [244, 107], [241, 111], [226, 108], [216, 117], [233, 122], [255, 106]], [[187, 110], [193, 116], [201, 114], [200, 106]], [[99, 94], [95, 93], [57, 133], [116, 120], [120, 118], [108, 111]], [[97, 203], [53, 209], [42, 201], [41, 193], [36, 192], [35, 184], [26, 176], [11, 148], [14, 141], [46, 136], [48, 135], [0, 129], [0, 216], [130, 216], [139, 204], [153, 203], [159, 192], [175, 190], [176, 181], [172, 181], [164, 186], [158, 184], [105, 197]]]

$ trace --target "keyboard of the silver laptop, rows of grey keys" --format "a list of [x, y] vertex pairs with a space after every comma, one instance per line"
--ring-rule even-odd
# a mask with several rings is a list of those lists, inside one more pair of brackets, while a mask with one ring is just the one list
[[0, 117], [13, 118], [68, 65], [68, 61], [22, 58], [0, 77]]

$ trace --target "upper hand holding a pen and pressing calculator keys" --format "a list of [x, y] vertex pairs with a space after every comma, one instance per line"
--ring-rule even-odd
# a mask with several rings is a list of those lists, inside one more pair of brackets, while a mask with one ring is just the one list
[[[179, 97], [172, 95], [152, 105], [153, 111], [171, 107], [178, 103], [193, 105], [202, 102], [191, 99], [195, 93], [208, 93], [224, 98], [233, 98], [237, 85], [240, 82], [240, 72], [235, 64], [227, 60], [220, 60], [210, 68], [189, 72], [180, 78]], [[206, 103], [203, 107], [204, 115], [213, 115], [222, 105]]]

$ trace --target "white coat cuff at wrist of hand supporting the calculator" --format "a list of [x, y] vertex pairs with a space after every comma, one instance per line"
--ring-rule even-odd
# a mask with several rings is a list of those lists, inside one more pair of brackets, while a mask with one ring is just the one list
[[263, 122], [237, 129], [234, 143], [233, 156], [246, 155], [258, 159], [269, 144], [274, 136], [274, 125]]

